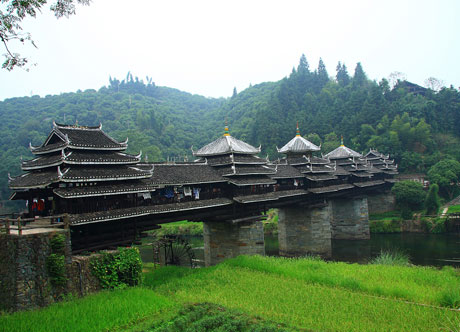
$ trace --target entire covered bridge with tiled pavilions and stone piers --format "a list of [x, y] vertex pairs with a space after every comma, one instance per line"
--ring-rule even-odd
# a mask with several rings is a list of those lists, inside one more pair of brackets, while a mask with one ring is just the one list
[[28, 217], [68, 213], [74, 252], [129, 244], [160, 224], [204, 221], [206, 264], [239, 254], [263, 254], [261, 220], [280, 209], [280, 252], [330, 255], [331, 238], [369, 238], [368, 210], [391, 204], [385, 191], [396, 166], [343, 144], [321, 157], [297, 135], [270, 162], [260, 148], [225, 134], [194, 151], [195, 162], [142, 163], [126, 142], [101, 126], [54, 124], [37, 156], [10, 179], [12, 199]]

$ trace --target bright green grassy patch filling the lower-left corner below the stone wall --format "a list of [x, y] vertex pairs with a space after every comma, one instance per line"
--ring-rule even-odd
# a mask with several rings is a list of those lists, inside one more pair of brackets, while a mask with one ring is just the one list
[[176, 306], [171, 299], [150, 289], [112, 290], [56, 303], [41, 310], [0, 316], [0, 331], [113, 331], [148, 316], [174, 310]]

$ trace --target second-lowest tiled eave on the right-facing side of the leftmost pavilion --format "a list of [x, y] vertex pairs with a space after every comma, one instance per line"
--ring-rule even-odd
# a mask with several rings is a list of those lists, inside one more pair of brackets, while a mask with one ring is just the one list
[[63, 182], [113, 181], [149, 178], [150, 171], [131, 166], [69, 167], [62, 169]]

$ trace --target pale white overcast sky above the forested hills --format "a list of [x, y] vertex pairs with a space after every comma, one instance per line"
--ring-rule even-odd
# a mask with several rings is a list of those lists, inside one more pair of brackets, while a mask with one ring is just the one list
[[10, 44], [34, 65], [0, 69], [0, 100], [99, 89], [128, 72], [229, 97], [288, 76], [302, 54], [330, 76], [361, 62], [372, 80], [401, 72], [459, 88], [459, 13], [457, 0], [93, 0], [68, 19], [45, 8], [23, 22], [38, 48]]

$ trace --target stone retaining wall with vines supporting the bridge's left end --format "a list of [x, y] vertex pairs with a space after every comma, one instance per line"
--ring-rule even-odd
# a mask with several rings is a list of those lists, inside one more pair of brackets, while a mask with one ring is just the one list
[[[47, 269], [50, 240], [65, 235], [67, 283], [53, 285]], [[116, 251], [114, 251], [116, 253]], [[96, 254], [97, 255], [97, 254]], [[64, 229], [41, 229], [0, 235], [0, 310], [18, 311], [47, 306], [67, 294], [84, 296], [101, 289], [92, 275], [91, 256], [72, 256], [70, 233]]]

